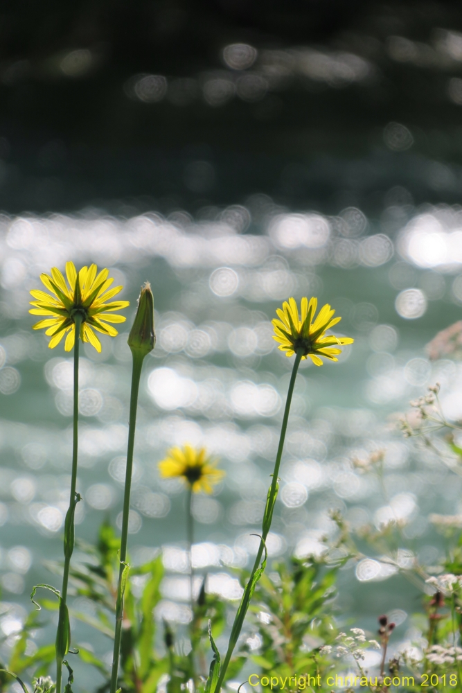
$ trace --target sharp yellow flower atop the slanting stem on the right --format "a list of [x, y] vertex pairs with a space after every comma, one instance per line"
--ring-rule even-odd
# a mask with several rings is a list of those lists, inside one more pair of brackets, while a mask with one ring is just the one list
[[279, 342], [278, 349], [287, 352], [286, 356], [292, 356], [299, 349], [303, 349], [302, 359], [310, 356], [314, 365], [322, 366], [323, 362], [319, 358], [320, 356], [325, 356], [331, 361], [338, 361], [338, 358], [335, 357], [341, 353], [341, 349], [337, 347], [352, 344], [355, 340], [351, 337], [326, 335], [326, 330], [336, 325], [341, 317], [332, 319], [335, 310], [331, 310], [329, 304], [326, 304], [313, 321], [317, 304], [318, 299], [312, 298], [308, 303], [308, 298], [303, 297], [301, 299], [301, 317], [299, 317], [299, 309], [295, 299], [290, 298], [288, 303], [284, 301], [283, 309], [278, 308], [276, 310], [279, 319], [275, 318], [272, 321], [276, 333], [273, 339]]

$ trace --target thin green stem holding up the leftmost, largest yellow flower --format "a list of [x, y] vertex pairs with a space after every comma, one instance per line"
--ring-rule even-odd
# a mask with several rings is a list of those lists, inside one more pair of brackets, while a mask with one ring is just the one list
[[[69, 584], [69, 569], [71, 567], [71, 555], [73, 551], [73, 509], [75, 509], [75, 486], [77, 485], [77, 457], [78, 457], [78, 359], [80, 347], [80, 326], [82, 317], [79, 313], [75, 314], [75, 340], [74, 340], [74, 387], [73, 387], [73, 439], [72, 439], [72, 471], [71, 471], [71, 492], [69, 494], [69, 510], [71, 513], [71, 527], [65, 526], [64, 533], [64, 571], [62, 573], [62, 590], [60, 599], [60, 612], [57, 622], [57, 631], [63, 633], [67, 628], [66, 624], [66, 601], [67, 586]], [[66, 516], [67, 518], [67, 516]], [[66, 523], [67, 524], [67, 523]], [[67, 532], [72, 536], [67, 536]], [[69, 539], [71, 538], [71, 541]], [[62, 656], [59, 651], [56, 653], [56, 693], [61, 693], [62, 682]]]

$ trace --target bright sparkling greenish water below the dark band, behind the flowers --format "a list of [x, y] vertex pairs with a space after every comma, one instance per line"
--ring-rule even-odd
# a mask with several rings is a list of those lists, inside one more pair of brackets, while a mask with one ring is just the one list
[[[409, 202], [409, 201], [408, 201]], [[406, 522], [398, 564], [418, 554], [438, 561], [441, 541], [429, 514], [460, 514], [459, 476], [417, 451], [396, 429], [396, 414], [441, 383], [447, 416], [462, 416], [462, 368], [429, 360], [425, 344], [456, 322], [462, 304], [462, 212], [389, 204], [381, 220], [349, 207], [337, 216], [276, 206], [265, 195], [245, 205], [206, 208], [197, 218], [155, 210], [115, 218], [75, 215], [0, 218], [0, 629], [2, 656], [30, 610], [37, 582], [60, 587], [44, 567], [62, 557], [71, 469], [72, 355], [50, 350], [31, 325], [28, 294], [39, 274], [95, 262], [110, 267], [130, 300], [125, 331], [88, 344], [80, 360], [80, 457], [76, 534], [94, 541], [107, 517], [121, 527], [131, 354], [127, 332], [144, 281], [154, 292], [157, 344], [146, 358], [136, 430], [129, 546], [133, 563], [161, 551], [166, 568], [157, 617], [188, 621], [184, 486], [160, 480], [172, 445], [206, 446], [226, 470], [213, 495], [194, 502], [193, 563], [207, 589], [240, 597], [229, 570], [256, 552], [293, 360], [276, 348], [270, 320], [290, 296], [315, 295], [342, 316], [337, 335], [355, 337], [338, 363], [304, 361], [296, 380], [281, 466], [269, 556], [323, 550], [335, 532], [328, 510], [353, 527]], [[393, 223], [391, 223], [391, 221]], [[384, 489], [353, 457], [386, 449]], [[419, 593], [397, 569], [360, 543], [364, 558], [340, 572], [339, 606], [375, 629], [379, 613], [401, 617]], [[78, 553], [75, 554], [78, 558]], [[383, 556], [382, 556], [383, 557]], [[377, 581], [382, 584], [377, 585]], [[134, 590], [143, 588], [133, 579]], [[409, 606], [411, 604], [411, 606]], [[82, 611], [94, 606], [82, 597]], [[398, 613], [398, 611], [396, 613]], [[48, 629], [53, 639], [53, 617]], [[397, 629], [398, 631], [398, 629]], [[409, 633], [408, 633], [409, 635]], [[40, 635], [39, 637], [45, 637]], [[75, 642], [111, 649], [81, 624]], [[33, 648], [35, 645], [30, 644]], [[88, 676], [88, 674], [87, 674]], [[91, 679], [89, 679], [91, 685]]]

